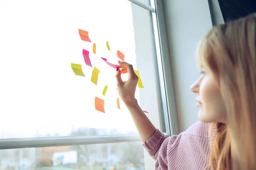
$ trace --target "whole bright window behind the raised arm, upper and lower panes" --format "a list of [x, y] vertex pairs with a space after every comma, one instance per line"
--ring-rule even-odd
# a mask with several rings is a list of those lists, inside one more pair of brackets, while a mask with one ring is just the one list
[[[141, 108], [169, 132], [168, 124], [163, 127], [168, 119], [154, 0], [0, 4], [0, 169], [145, 169], [136, 127], [121, 100], [117, 106], [115, 69], [101, 57], [116, 64], [117, 51], [125, 54], [140, 71]], [[91, 42], [81, 40], [79, 29], [88, 31]], [[71, 63], [80, 64], [85, 77], [75, 75]], [[97, 83], [91, 81], [94, 67], [100, 71]], [[105, 113], [95, 109], [96, 97], [105, 101]], [[134, 159], [135, 148], [140, 159]]]

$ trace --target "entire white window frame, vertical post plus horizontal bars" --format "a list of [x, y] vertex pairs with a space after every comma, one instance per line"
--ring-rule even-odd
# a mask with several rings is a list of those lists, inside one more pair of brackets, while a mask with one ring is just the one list
[[[173, 88], [172, 68], [168, 40], [166, 36], [166, 25], [163, 12], [163, 0], [150, 0], [150, 4], [139, 0], [129, 0], [151, 12], [152, 35], [154, 39], [154, 68], [156, 76], [157, 98], [159, 114], [152, 114], [151, 119], [160, 119], [160, 130], [169, 136], [179, 133], [177, 121], [177, 109], [175, 93]], [[107, 136], [62, 136], [62, 137], [40, 137], [0, 139], [0, 149], [17, 149], [30, 147], [52, 147], [84, 144], [103, 144], [116, 142], [141, 141], [138, 134], [135, 135], [107, 135]], [[145, 153], [147, 154], [147, 153]], [[152, 161], [145, 159], [145, 169], [154, 169]], [[150, 168], [148, 168], [150, 167]]]

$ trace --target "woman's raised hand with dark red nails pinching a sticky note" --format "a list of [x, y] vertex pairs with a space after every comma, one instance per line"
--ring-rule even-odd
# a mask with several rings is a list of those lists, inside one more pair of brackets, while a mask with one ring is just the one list
[[[133, 66], [128, 62], [118, 62], [118, 68], [116, 68], [116, 84], [119, 96], [126, 106], [136, 104], [135, 91], [138, 83], [138, 77], [134, 72]], [[122, 68], [122, 70], [120, 70]], [[123, 82], [121, 74], [127, 73], [129, 78]]]

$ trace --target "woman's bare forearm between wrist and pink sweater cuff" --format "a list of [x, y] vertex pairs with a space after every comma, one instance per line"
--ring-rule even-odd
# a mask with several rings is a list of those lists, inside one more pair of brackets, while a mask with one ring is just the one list
[[134, 124], [137, 127], [142, 142], [147, 141], [156, 131], [156, 127], [154, 127], [154, 125], [142, 111], [137, 100], [126, 106], [131, 113], [132, 119], [134, 120]]

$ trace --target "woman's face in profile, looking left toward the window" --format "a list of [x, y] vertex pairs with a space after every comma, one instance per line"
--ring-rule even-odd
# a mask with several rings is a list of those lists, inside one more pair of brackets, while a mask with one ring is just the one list
[[196, 105], [201, 122], [227, 122], [227, 116], [221, 92], [214, 74], [207, 65], [201, 68], [201, 76], [191, 85], [191, 90], [198, 94]]

